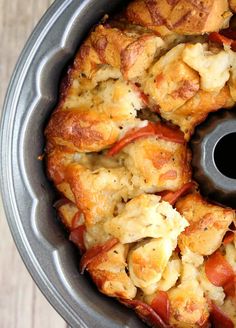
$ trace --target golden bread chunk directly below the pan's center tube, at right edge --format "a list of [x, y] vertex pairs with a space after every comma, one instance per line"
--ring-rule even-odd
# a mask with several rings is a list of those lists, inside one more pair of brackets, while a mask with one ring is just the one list
[[180, 199], [176, 209], [189, 222], [189, 227], [179, 236], [180, 249], [187, 247], [200, 255], [215, 252], [235, 218], [233, 210], [212, 205], [198, 193]]

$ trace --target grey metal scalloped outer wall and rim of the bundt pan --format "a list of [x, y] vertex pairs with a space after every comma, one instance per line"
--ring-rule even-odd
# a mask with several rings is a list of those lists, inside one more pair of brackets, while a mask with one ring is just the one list
[[1, 123], [2, 197], [13, 237], [35, 282], [72, 327], [144, 327], [79, 274], [78, 253], [56, 219], [55, 193], [37, 159], [63, 68], [89, 29], [121, 3], [56, 1], [22, 52]]

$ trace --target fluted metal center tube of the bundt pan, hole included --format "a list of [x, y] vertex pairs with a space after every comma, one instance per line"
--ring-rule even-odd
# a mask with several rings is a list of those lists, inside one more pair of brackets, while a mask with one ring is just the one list
[[210, 200], [235, 208], [236, 114], [210, 114], [192, 138], [192, 166], [201, 192]]

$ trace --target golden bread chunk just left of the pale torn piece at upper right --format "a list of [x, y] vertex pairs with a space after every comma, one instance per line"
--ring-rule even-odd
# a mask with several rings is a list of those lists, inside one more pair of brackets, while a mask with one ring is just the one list
[[173, 112], [199, 90], [199, 74], [183, 61], [187, 46], [179, 44], [162, 56], [149, 70], [142, 88], [160, 113]]

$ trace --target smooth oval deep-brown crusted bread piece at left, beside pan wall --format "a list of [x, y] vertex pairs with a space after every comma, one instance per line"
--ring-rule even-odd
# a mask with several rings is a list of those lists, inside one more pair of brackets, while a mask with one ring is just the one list
[[54, 146], [65, 151], [100, 151], [113, 144], [119, 129], [106, 116], [80, 109], [53, 113], [45, 135]]

